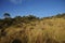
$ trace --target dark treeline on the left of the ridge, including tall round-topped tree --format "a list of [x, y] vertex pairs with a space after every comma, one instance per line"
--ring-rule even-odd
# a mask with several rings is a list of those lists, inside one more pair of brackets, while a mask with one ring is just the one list
[[[30, 22], [39, 20], [39, 17], [36, 17], [34, 15], [28, 16], [15, 16], [14, 18], [11, 17], [9, 13], [3, 14], [4, 18], [0, 19], [0, 29], [8, 28], [10, 26], [15, 26], [18, 24], [28, 24]], [[20, 27], [20, 26], [18, 26]]]

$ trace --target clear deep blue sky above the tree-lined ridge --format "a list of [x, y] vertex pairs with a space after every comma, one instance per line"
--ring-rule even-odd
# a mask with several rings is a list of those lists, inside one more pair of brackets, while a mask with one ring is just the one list
[[65, 0], [0, 0], [0, 17], [4, 13], [12, 17], [32, 14], [46, 17], [65, 13]]

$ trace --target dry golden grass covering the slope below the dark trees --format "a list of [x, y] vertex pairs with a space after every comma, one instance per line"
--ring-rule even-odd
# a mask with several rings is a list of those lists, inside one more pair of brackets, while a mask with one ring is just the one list
[[23, 27], [5, 29], [0, 43], [65, 43], [65, 19], [50, 18], [24, 24]]

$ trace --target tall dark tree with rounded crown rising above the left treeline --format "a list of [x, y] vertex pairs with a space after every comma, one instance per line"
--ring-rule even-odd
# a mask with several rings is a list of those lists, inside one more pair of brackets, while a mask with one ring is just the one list
[[3, 16], [4, 16], [4, 19], [3, 19], [4, 27], [11, 26], [12, 25], [12, 18], [11, 18], [10, 13], [4, 13]]

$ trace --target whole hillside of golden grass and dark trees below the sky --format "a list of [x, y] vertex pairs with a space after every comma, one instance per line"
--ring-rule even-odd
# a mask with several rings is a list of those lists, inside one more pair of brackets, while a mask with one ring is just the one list
[[0, 43], [65, 43], [65, 14], [0, 19]]

